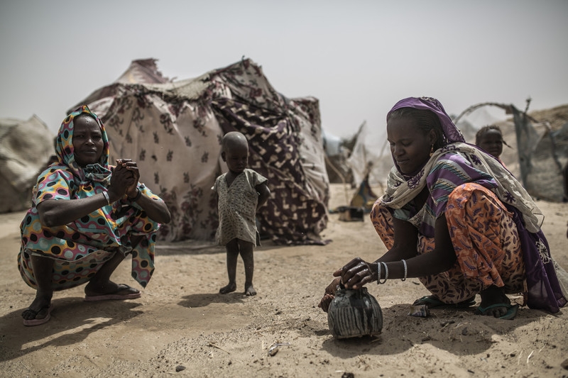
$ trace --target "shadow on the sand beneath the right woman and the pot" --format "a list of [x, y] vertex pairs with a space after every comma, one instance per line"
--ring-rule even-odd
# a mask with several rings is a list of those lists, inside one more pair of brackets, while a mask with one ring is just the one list
[[[467, 309], [432, 309], [430, 316], [408, 316], [410, 304], [383, 308], [383, 329], [377, 337], [337, 339], [330, 337], [322, 348], [340, 358], [361, 354], [397, 355], [415, 345], [430, 344], [454, 355], [476, 355], [491, 348], [493, 336], [507, 337], [515, 328], [538, 321], [542, 311], [522, 308], [513, 321], [474, 314]], [[321, 333], [321, 332], [320, 332]]]

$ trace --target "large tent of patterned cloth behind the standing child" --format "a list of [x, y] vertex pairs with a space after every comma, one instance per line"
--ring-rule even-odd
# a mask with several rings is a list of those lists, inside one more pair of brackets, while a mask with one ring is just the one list
[[249, 167], [271, 189], [257, 216], [261, 235], [280, 244], [325, 243], [329, 179], [318, 100], [279, 94], [251, 60], [180, 81], [163, 77], [153, 59], [136, 60], [80, 104], [104, 121], [111, 155], [136, 160], [141, 182], [168, 204], [173, 221], [161, 239], [212, 240], [211, 188], [226, 171], [220, 140], [238, 130], [249, 139]]

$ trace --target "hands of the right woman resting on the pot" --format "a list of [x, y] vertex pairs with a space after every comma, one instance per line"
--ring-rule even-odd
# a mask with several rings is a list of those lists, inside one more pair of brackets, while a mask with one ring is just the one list
[[346, 289], [359, 289], [364, 287], [365, 284], [373, 282], [376, 279], [376, 274], [377, 269], [374, 264], [366, 262], [361, 257], [354, 258], [333, 273], [336, 278], [325, 288], [324, 296], [317, 306], [327, 312], [329, 304], [334, 299], [335, 291], [340, 286]]

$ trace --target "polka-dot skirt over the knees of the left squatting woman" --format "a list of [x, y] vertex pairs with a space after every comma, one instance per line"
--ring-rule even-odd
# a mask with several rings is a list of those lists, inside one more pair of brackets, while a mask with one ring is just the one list
[[[88, 232], [87, 228], [80, 229], [76, 225], [73, 228], [69, 225], [43, 228], [37, 216], [26, 214], [21, 225], [22, 235], [30, 241], [22, 240], [18, 253], [18, 270], [23, 281], [38, 289], [33, 276], [33, 255], [53, 260], [51, 287], [59, 291], [89, 282], [115, 253], [121, 253], [132, 255], [131, 275], [146, 287], [154, 271], [157, 227], [146, 212], [134, 206], [131, 206], [129, 216], [119, 219], [113, 231], [97, 230], [95, 233], [94, 229]], [[136, 243], [132, 243], [133, 240]]]

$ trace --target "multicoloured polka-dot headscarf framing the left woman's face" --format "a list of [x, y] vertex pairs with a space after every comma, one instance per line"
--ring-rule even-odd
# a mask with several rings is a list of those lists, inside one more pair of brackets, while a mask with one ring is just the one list
[[[82, 113], [87, 113], [94, 118], [101, 128], [103, 149], [99, 162], [81, 167], [75, 161], [75, 148], [73, 147], [74, 119]], [[55, 154], [58, 157], [59, 165], [65, 165], [75, 177], [79, 177], [81, 182], [94, 181], [108, 185], [111, 171], [109, 169], [109, 138], [107, 131], [104, 130], [102, 121], [93, 113], [87, 105], [80, 106], [72, 111], [61, 123], [58, 136], [55, 140]]]

